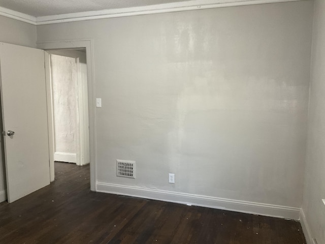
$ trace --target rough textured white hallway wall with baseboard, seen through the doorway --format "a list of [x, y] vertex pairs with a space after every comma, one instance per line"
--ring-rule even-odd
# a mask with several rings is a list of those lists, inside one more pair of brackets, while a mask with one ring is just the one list
[[50, 55], [53, 89], [54, 160], [76, 163], [78, 79], [76, 58]]

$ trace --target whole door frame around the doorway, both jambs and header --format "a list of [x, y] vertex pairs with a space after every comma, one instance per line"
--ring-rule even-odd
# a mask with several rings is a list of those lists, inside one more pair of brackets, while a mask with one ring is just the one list
[[[59, 41], [46, 41], [38, 42], [37, 48], [45, 50], [45, 65], [49, 67], [49, 54], [46, 50], [53, 49], [86, 49], [86, 62], [87, 62], [87, 83], [88, 83], [88, 114], [89, 114], [89, 153], [90, 153], [90, 190], [96, 191], [96, 116], [95, 116], [95, 83], [94, 83], [94, 64], [93, 64], [93, 40], [92, 39], [78, 39], [78, 40], [59, 40]], [[46, 72], [46, 93], [48, 101], [51, 99], [51, 86], [50, 86], [50, 72]], [[48, 109], [52, 104], [48, 102]], [[48, 111], [51, 111], [51, 110]], [[52, 114], [48, 112], [48, 126], [49, 126], [49, 149], [50, 149], [50, 179], [54, 180], [54, 145], [53, 145], [53, 122]], [[51, 128], [51, 129], [50, 129]]]

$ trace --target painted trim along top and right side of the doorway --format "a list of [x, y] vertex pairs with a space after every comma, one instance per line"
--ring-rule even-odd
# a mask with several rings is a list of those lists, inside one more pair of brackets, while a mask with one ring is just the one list
[[87, 82], [88, 82], [88, 111], [89, 111], [89, 151], [90, 151], [90, 190], [96, 191], [97, 181], [97, 158], [96, 151], [96, 114], [95, 114], [95, 82], [94, 82], [94, 57], [92, 39], [73, 39], [38, 42], [37, 48], [51, 49], [75, 49], [86, 48]]

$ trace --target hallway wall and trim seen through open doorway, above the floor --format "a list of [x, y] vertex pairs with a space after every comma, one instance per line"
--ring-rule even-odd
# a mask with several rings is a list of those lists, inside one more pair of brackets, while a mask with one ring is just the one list
[[86, 50], [47, 52], [53, 161], [87, 165], [90, 153]]

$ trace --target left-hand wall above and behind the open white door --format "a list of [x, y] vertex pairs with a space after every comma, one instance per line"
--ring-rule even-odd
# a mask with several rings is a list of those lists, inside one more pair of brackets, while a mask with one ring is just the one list
[[[0, 42], [27, 47], [36, 47], [36, 26], [18, 20], [0, 16]], [[1, 108], [0, 108], [1, 114]], [[0, 115], [1, 117], [1, 115]], [[0, 118], [2, 120], [2, 118]], [[2, 123], [0, 126], [2, 129]], [[3, 147], [3, 136], [0, 136], [0, 148]], [[0, 202], [6, 200], [5, 168], [3, 150], [0, 150]]]

